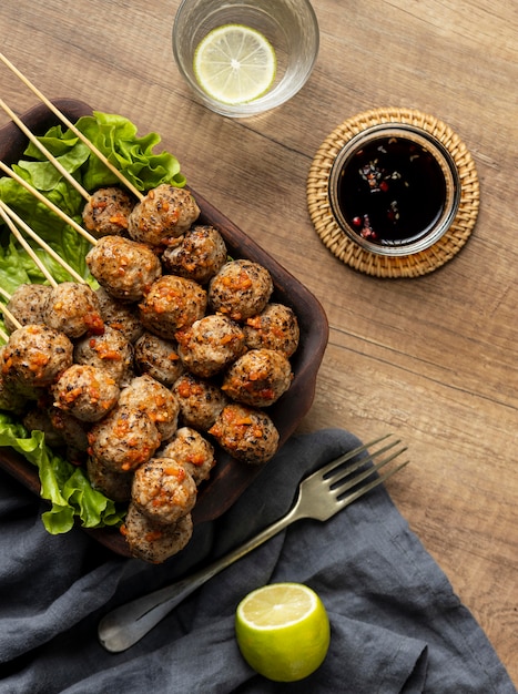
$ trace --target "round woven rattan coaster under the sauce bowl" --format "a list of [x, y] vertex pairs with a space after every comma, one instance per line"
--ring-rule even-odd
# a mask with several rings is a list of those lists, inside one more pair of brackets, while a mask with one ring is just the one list
[[[378, 255], [362, 248], [341, 228], [331, 207], [328, 182], [337, 154], [352, 137], [384, 123], [410, 124], [430, 133], [448, 150], [461, 181], [460, 204], [451, 226], [429, 248], [412, 255]], [[376, 277], [418, 277], [450, 261], [469, 238], [478, 215], [478, 176], [466, 145], [446, 123], [416, 110], [375, 109], [344, 121], [322, 143], [309, 169], [307, 206], [322, 242], [346, 265]]]

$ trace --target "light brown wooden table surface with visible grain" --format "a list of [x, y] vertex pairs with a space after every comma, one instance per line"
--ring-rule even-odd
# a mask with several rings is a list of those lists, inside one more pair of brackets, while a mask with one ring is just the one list
[[[405, 440], [413, 463], [390, 494], [518, 684], [518, 3], [314, 0], [321, 51], [309, 82], [246, 121], [193, 101], [171, 50], [177, 4], [2, 0], [0, 50], [47, 96], [159, 132], [192, 187], [318, 297], [331, 335], [301, 430]], [[3, 65], [0, 85], [17, 112], [37, 102]], [[448, 123], [480, 180], [471, 237], [421, 278], [351, 269], [307, 212], [321, 143], [379, 106]]]

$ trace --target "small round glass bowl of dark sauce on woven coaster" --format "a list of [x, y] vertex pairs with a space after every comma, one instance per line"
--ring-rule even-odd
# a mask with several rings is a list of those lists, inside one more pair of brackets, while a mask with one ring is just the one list
[[333, 215], [362, 248], [385, 256], [419, 253], [448, 231], [460, 177], [443, 143], [406, 123], [382, 123], [353, 136], [329, 174]]

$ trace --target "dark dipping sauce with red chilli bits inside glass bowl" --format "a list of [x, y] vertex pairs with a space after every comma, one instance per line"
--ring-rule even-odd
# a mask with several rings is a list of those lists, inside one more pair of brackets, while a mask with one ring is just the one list
[[337, 203], [351, 228], [372, 243], [403, 245], [426, 234], [445, 210], [440, 164], [405, 137], [378, 137], [349, 156]]

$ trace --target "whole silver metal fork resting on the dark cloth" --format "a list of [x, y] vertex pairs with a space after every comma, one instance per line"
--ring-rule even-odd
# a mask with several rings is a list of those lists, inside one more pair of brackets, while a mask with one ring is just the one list
[[[304, 479], [298, 486], [298, 494], [291, 511], [252, 538], [252, 540], [248, 540], [196, 573], [166, 588], [128, 602], [108, 613], [99, 623], [98, 635], [101, 644], [106, 651], [112, 653], [125, 651], [140, 641], [197, 588], [266, 542], [266, 540], [270, 540], [270, 538], [273, 538], [291, 523], [303, 518], [326, 521], [395, 474], [409, 461], [407, 460], [397, 467], [393, 466], [383, 474], [377, 474], [377, 472], [406, 450], [406, 447], [396, 448], [400, 440], [389, 442], [368, 456], [362, 456], [359, 460], [349, 466], [344, 465], [348, 460], [366, 452], [372, 446], [377, 446], [386, 440], [389, 436], [384, 436], [344, 453]], [[385, 457], [379, 462], [374, 463], [374, 459], [380, 456]], [[373, 465], [364, 469], [369, 461]]]

